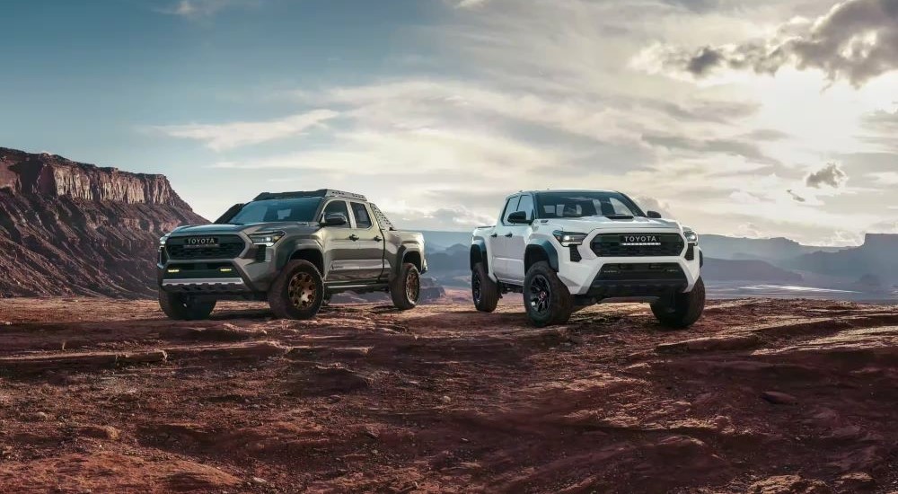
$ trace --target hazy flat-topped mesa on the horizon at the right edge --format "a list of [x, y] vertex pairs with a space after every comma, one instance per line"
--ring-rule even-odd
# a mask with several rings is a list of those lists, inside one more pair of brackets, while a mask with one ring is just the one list
[[871, 275], [889, 284], [898, 283], [898, 234], [867, 234], [859, 247], [805, 254], [786, 265], [852, 281]]

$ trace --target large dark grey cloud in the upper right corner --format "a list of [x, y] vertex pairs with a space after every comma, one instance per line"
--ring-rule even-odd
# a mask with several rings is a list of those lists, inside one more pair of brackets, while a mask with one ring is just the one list
[[814, 22], [788, 22], [769, 38], [742, 44], [650, 51], [666, 68], [697, 77], [721, 67], [775, 74], [794, 65], [859, 86], [898, 69], [898, 0], [846, 0]]

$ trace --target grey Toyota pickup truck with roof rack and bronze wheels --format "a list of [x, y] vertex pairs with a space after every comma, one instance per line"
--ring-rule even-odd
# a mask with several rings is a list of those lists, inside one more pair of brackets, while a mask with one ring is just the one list
[[340, 292], [385, 291], [407, 310], [427, 271], [422, 234], [401, 232], [365, 196], [339, 190], [262, 193], [212, 225], [159, 240], [159, 304], [172, 319], [205, 319], [222, 299], [268, 301], [308, 319]]

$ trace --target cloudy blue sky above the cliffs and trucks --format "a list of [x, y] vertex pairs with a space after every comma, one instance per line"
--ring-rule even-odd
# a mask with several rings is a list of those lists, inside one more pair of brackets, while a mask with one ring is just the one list
[[6, 0], [0, 146], [215, 218], [364, 193], [406, 228], [621, 190], [700, 233], [898, 233], [898, 0]]

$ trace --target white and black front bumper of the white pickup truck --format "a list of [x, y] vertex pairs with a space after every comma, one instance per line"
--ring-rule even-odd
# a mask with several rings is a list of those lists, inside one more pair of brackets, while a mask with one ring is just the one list
[[[657, 233], [670, 231], [659, 230]], [[559, 278], [571, 295], [597, 299], [665, 296], [690, 292], [700, 277], [702, 253], [697, 245], [691, 247], [691, 255], [687, 255], [690, 246], [686, 244], [677, 256], [599, 257], [590, 247], [596, 234], [587, 236], [584, 243], [573, 248], [573, 251], [572, 248], [558, 245]], [[612, 277], [608, 276], [606, 267], [621, 265], [635, 266], [637, 269], [630, 272], [624, 269]], [[658, 276], [651, 269], [639, 269], [653, 265], [675, 267], [679, 272], [676, 276], [673, 272]]]

